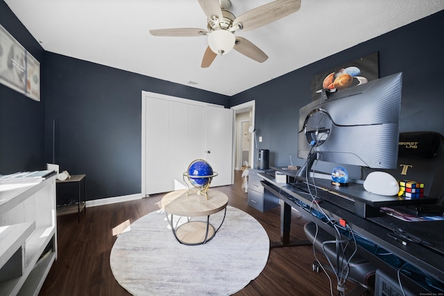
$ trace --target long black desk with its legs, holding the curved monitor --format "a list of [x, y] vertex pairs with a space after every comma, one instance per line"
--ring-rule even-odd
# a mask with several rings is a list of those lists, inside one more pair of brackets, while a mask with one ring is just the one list
[[[283, 201], [281, 207], [281, 243], [283, 245], [289, 245], [289, 222], [291, 220], [290, 211], [294, 207], [300, 210], [302, 216], [309, 220], [313, 220], [314, 216], [303, 207], [301, 204], [310, 204], [311, 195], [301, 190], [295, 190], [291, 186], [276, 183], [271, 175], [259, 174], [264, 178], [265, 189], [271, 191], [275, 195], [279, 196]], [[364, 190], [364, 189], [362, 189]], [[407, 222], [393, 218], [391, 216], [373, 216], [363, 218], [357, 216], [353, 212], [352, 201], [343, 199], [342, 207], [339, 207], [338, 202], [329, 202], [324, 200], [319, 204], [323, 211], [334, 219], [343, 218], [352, 228], [353, 232], [364, 236], [368, 241], [375, 243], [384, 250], [395, 254], [398, 258], [402, 259], [422, 270], [427, 275], [436, 279], [444, 284], [444, 255], [437, 250], [442, 249], [442, 229], [444, 228], [444, 221], [427, 221], [425, 223], [410, 225]], [[350, 210], [351, 209], [351, 210]], [[315, 218], [316, 224], [325, 229], [325, 231], [334, 235], [334, 231], [330, 225], [324, 223], [323, 220]], [[435, 249], [431, 247], [425, 247], [416, 243], [408, 243], [402, 245], [402, 243], [396, 242], [389, 233], [393, 232], [394, 228], [400, 227], [404, 230], [411, 232], [412, 234], [422, 235], [422, 238], [427, 241], [431, 241], [435, 244]], [[422, 232], [422, 233], [421, 233]], [[382, 270], [389, 270], [393, 274], [394, 268], [389, 265], [384, 265], [379, 259], [375, 258], [375, 255], [359, 247], [359, 254], [366, 257], [369, 261], [372, 261]]]

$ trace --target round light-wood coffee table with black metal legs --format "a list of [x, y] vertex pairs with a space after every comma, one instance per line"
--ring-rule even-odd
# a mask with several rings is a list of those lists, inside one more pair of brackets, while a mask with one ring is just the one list
[[[210, 241], [221, 228], [228, 205], [228, 196], [221, 191], [208, 189], [208, 199], [205, 195], [196, 194], [194, 189], [182, 189], [168, 193], [162, 198], [162, 208], [165, 210], [174, 236], [185, 245], [202, 245]], [[210, 215], [225, 210], [221, 225], [214, 228], [210, 223]], [[187, 217], [187, 222], [175, 226], [174, 216]], [[192, 220], [191, 217], [204, 217], [206, 221]], [[178, 218], [180, 219], [180, 218]], [[176, 221], [176, 224], [178, 221]]]

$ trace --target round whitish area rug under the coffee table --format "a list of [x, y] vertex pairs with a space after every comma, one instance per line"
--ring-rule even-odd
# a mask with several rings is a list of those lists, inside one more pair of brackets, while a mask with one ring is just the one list
[[[217, 229], [222, 219], [223, 211], [210, 216], [210, 223]], [[262, 272], [269, 247], [264, 227], [234, 207], [227, 207], [221, 228], [204, 245], [176, 241], [159, 210], [119, 235], [110, 265], [119, 284], [133, 295], [231, 295]]]

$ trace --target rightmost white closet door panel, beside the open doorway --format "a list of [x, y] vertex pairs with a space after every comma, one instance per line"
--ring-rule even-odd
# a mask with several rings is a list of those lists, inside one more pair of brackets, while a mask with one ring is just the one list
[[233, 110], [207, 106], [206, 160], [219, 175], [211, 186], [231, 184]]

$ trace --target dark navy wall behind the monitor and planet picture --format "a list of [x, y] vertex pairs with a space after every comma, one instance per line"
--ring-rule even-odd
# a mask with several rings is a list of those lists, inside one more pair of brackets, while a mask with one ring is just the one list
[[311, 101], [311, 77], [378, 52], [379, 77], [403, 72], [401, 131], [444, 134], [443, 28], [441, 11], [232, 96], [231, 105], [256, 100], [257, 136], [264, 139], [259, 148], [270, 150], [272, 165], [289, 165], [290, 155], [293, 164], [302, 164], [297, 158], [296, 132], [299, 109]]

